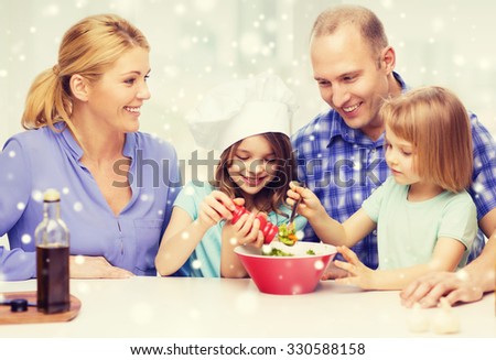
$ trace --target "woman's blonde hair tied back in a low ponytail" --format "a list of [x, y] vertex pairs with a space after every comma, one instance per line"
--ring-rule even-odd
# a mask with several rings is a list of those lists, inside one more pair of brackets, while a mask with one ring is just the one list
[[31, 85], [21, 123], [24, 129], [63, 121], [69, 128], [73, 107], [71, 77], [79, 74], [96, 81], [112, 64], [133, 47], [150, 50], [144, 35], [115, 14], [88, 17], [64, 34], [58, 62], [41, 73]]

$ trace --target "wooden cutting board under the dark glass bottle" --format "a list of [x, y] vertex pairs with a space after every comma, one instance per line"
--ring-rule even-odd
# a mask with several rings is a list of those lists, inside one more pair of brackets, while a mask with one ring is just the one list
[[[1, 293], [0, 298], [11, 301], [25, 298], [29, 303], [36, 303], [36, 292]], [[62, 323], [71, 321], [80, 309], [80, 301], [71, 295], [71, 308], [68, 312], [58, 314], [43, 314], [36, 306], [28, 306], [28, 312], [12, 313], [10, 305], [0, 305], [0, 325], [2, 324], [35, 324], [35, 323]]]

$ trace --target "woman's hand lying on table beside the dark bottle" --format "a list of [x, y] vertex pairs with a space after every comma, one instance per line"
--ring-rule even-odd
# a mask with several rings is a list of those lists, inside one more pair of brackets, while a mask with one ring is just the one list
[[104, 257], [69, 257], [69, 273], [73, 279], [128, 279], [133, 273], [112, 266]]

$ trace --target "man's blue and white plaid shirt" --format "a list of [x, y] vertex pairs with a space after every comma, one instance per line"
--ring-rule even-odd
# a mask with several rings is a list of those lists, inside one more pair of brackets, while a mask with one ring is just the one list
[[[403, 91], [408, 90], [395, 73]], [[474, 143], [473, 185], [468, 189], [481, 220], [496, 207], [496, 144], [477, 117], [471, 113]], [[384, 134], [373, 141], [360, 130], [349, 128], [337, 111], [319, 114], [292, 137], [299, 179], [321, 199], [327, 214], [339, 222], [362, 207], [362, 203], [389, 176], [384, 152]], [[319, 242], [310, 223], [305, 241]], [[484, 247], [478, 231], [470, 260]], [[373, 231], [352, 248], [362, 262], [378, 266], [377, 232]]]

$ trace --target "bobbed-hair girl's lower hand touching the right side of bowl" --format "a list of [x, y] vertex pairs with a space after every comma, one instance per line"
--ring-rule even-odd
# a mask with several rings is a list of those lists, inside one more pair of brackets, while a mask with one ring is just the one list
[[343, 258], [347, 261], [334, 261], [334, 264], [349, 273], [347, 277], [336, 279], [336, 283], [345, 285], [355, 285], [362, 288], [374, 288], [374, 275], [375, 271], [365, 266], [362, 261], [358, 260], [356, 253], [347, 247], [336, 247]]

